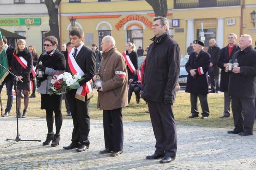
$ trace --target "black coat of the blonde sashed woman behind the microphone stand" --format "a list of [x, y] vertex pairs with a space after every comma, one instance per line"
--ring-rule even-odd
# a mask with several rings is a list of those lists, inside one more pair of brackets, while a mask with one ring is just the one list
[[27, 49], [27, 47], [23, 51], [19, 51], [16, 56], [23, 57], [27, 62], [27, 68], [25, 69], [18, 60], [12, 56], [12, 62], [11, 62], [11, 68], [12, 73], [16, 76], [22, 76], [23, 79], [21, 79], [23, 82], [29, 82], [30, 81], [30, 73], [32, 71], [33, 67], [33, 57], [31, 52]]

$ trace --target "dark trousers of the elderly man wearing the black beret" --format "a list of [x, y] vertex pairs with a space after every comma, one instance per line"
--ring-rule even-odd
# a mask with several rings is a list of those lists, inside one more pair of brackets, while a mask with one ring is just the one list
[[191, 103], [191, 113], [192, 115], [198, 115], [198, 101], [197, 98], [200, 100], [201, 108], [202, 108], [202, 116], [208, 117], [210, 115], [208, 101], [207, 101], [207, 94], [197, 94], [197, 93], [190, 93], [190, 103]]

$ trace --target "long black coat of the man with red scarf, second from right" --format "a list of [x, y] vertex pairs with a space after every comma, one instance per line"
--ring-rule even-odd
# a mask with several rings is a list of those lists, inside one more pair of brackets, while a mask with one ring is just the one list
[[228, 91], [228, 83], [229, 83], [229, 74], [225, 72], [226, 67], [224, 67], [224, 64], [228, 63], [229, 60], [232, 58], [233, 54], [239, 50], [239, 46], [236, 44], [230, 54], [228, 56], [228, 46], [221, 49], [221, 52], [219, 53], [219, 58], [217, 61], [217, 65], [219, 68], [221, 68], [221, 83], [219, 90], [221, 92]]

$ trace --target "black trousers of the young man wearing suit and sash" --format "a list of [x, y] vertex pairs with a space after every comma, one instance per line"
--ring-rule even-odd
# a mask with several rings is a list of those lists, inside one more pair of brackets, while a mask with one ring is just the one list
[[89, 116], [89, 104], [90, 99], [85, 102], [68, 97], [68, 102], [70, 106], [71, 116], [73, 119], [73, 133], [72, 142], [80, 142], [89, 148], [89, 132], [90, 132], [90, 116]]

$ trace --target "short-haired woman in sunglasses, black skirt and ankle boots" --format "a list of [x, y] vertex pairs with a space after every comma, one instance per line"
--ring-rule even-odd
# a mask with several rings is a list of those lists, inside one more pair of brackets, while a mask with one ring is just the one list
[[[60, 128], [62, 125], [62, 114], [61, 114], [61, 100], [62, 94], [49, 95], [47, 91], [51, 87], [48, 85], [51, 83], [55, 74], [60, 74], [65, 71], [66, 60], [64, 55], [57, 49], [58, 40], [55, 36], [47, 36], [44, 39], [45, 51], [40, 55], [35, 70], [40, 69], [44, 71], [42, 78], [35, 77], [38, 80], [37, 92], [41, 93], [41, 109], [46, 111], [46, 123], [48, 128], [48, 134], [43, 145], [48, 145], [52, 141], [51, 146], [58, 146], [60, 141]], [[39, 62], [42, 61], [42, 65]], [[53, 123], [55, 114], [55, 130], [53, 132]]]

